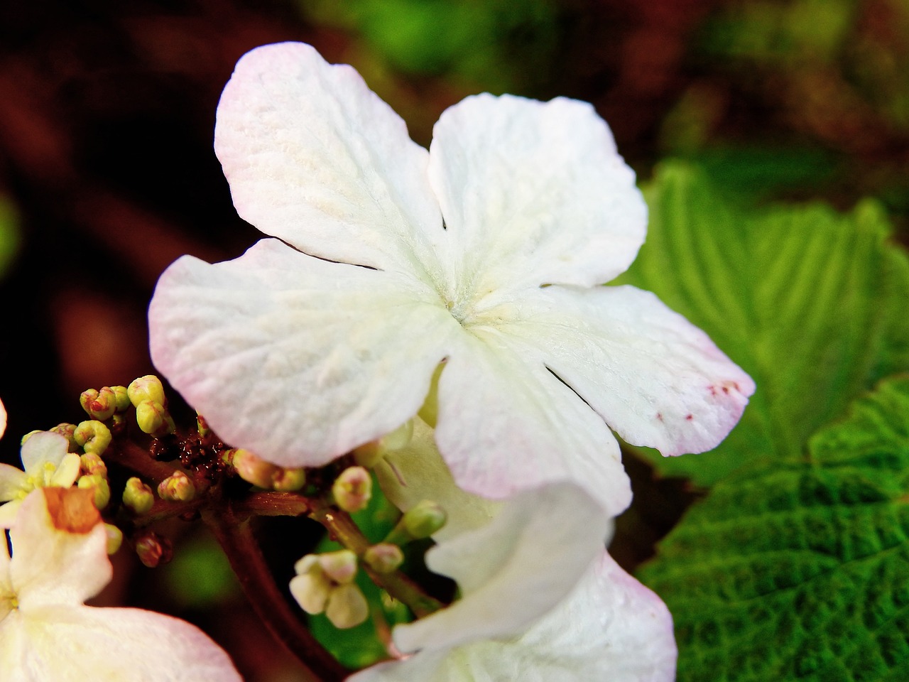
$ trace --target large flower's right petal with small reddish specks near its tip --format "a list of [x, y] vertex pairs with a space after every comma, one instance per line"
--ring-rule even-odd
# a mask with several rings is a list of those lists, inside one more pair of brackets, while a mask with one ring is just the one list
[[504, 311], [498, 328], [625, 441], [666, 456], [717, 446], [754, 393], [703, 331], [633, 286], [539, 289]]

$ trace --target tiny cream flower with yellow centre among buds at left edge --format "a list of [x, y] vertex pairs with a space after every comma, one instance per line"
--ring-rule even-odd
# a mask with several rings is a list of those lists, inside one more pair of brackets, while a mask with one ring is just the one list
[[79, 477], [79, 456], [69, 449], [60, 434], [39, 431], [22, 446], [20, 456], [25, 469], [0, 464], [0, 528], [8, 528], [16, 511], [30, 492], [38, 487], [69, 487]]

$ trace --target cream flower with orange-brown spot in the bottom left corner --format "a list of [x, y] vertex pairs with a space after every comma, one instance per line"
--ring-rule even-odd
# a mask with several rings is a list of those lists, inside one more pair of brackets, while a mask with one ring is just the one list
[[25, 498], [0, 543], [0, 676], [5, 682], [240, 682], [196, 627], [137, 608], [86, 607], [110, 581], [105, 526], [85, 490]]

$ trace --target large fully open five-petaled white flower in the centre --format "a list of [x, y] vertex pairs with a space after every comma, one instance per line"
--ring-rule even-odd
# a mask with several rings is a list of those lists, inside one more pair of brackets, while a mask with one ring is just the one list
[[646, 208], [591, 105], [468, 97], [427, 152], [350, 66], [266, 45], [225, 87], [215, 150], [240, 216], [278, 239], [170, 266], [152, 356], [275, 464], [391, 432], [445, 360], [435, 437], [460, 486], [573, 480], [617, 514], [631, 492], [610, 426], [699, 452], [754, 391], [655, 296], [598, 286], [634, 260]]

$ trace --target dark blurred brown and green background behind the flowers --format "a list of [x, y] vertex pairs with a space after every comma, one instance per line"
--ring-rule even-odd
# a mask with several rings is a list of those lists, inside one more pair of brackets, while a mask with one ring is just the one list
[[[465, 95], [565, 95], [594, 103], [643, 182], [681, 156], [748, 201], [875, 196], [909, 233], [906, 0], [5, 0], [0, 460], [79, 421], [85, 388], [153, 371], [165, 266], [258, 238], [212, 150], [215, 106], [241, 55], [285, 40], [355, 65], [423, 145]], [[614, 553], [632, 569], [694, 493], [629, 468], [635, 532]], [[154, 578], [118, 559], [109, 598], [200, 623], [251, 681], [294, 679], [210, 542], [187, 547]]]

